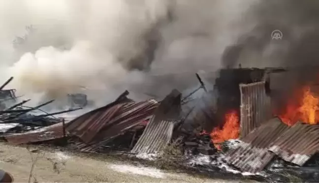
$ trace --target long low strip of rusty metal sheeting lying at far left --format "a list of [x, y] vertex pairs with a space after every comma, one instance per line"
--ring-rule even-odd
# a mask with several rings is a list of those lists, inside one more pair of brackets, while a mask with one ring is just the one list
[[10, 144], [17, 145], [17, 144], [25, 144], [25, 143], [31, 143], [31, 142], [53, 140], [53, 139], [58, 139], [63, 137], [64, 137], [63, 123], [61, 122], [61, 123], [51, 125], [49, 127], [37, 129], [35, 131], [8, 135], [8, 136], [5, 136], [4, 138]]

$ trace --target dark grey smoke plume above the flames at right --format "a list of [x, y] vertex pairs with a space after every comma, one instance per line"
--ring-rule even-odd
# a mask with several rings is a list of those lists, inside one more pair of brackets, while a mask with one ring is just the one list
[[[284, 109], [303, 86], [319, 82], [319, 1], [267, 0], [248, 10], [255, 27], [223, 52], [223, 67], [289, 67], [271, 78], [273, 96]], [[279, 29], [283, 38], [271, 38]], [[316, 66], [316, 67], [314, 67]], [[316, 87], [312, 91], [319, 93]]]

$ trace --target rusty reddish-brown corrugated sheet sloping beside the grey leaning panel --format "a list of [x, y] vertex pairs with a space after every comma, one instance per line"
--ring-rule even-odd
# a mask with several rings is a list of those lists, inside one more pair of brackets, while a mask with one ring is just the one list
[[154, 100], [106, 105], [70, 121], [66, 130], [86, 144], [104, 143], [150, 118], [157, 106]]

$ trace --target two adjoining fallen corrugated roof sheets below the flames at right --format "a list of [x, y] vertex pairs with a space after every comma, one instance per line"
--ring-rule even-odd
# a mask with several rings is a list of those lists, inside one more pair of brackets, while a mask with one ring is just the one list
[[297, 123], [288, 127], [274, 118], [242, 138], [243, 142], [227, 153], [226, 160], [252, 173], [263, 170], [275, 155], [302, 166], [319, 152], [318, 134], [318, 125]]

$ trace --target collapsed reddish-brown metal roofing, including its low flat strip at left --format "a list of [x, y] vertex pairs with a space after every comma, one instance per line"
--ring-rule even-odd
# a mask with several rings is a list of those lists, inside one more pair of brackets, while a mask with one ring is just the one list
[[58, 123], [21, 134], [8, 135], [4, 138], [12, 144], [23, 144], [62, 138], [67, 134], [77, 137], [94, 152], [99, 146], [126, 131], [143, 124], [153, 116], [159, 105], [155, 100], [132, 102], [121, 94], [113, 103], [85, 113], [68, 123]]

